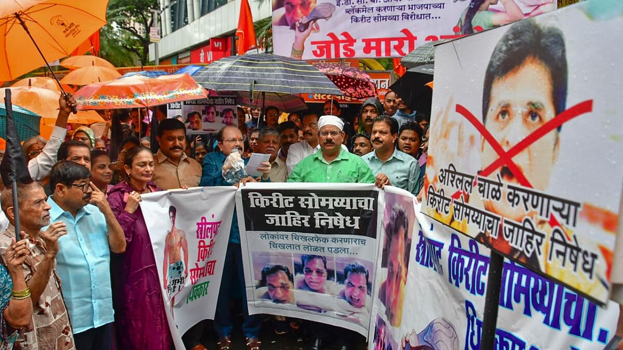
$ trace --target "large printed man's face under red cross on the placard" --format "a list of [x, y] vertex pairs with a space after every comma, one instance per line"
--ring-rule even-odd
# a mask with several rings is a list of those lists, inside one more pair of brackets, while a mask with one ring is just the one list
[[[528, 20], [513, 24], [506, 31], [487, 66], [482, 99], [483, 124], [505, 151], [565, 110], [567, 75], [560, 29]], [[560, 132], [560, 127], [550, 131], [513, 157], [521, 174], [503, 165], [488, 178], [497, 181], [499, 176], [502, 182], [516, 186], [518, 176], [524, 176], [534, 189], [546, 191], [558, 158]], [[485, 169], [499, 156], [484, 138], [480, 147]], [[523, 206], [513, 207], [506, 201], [506, 190], [502, 192], [502, 201], [484, 201], [484, 206], [516, 222], [526, 215]], [[501, 235], [490, 243], [507, 255], [516, 255]]]

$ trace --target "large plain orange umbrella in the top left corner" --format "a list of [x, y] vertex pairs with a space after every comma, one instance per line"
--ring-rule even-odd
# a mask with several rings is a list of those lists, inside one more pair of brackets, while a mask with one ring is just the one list
[[[0, 80], [67, 57], [106, 24], [108, 0], [4, 0], [0, 8]], [[34, 44], [36, 42], [36, 44]], [[37, 50], [37, 47], [39, 50]]]

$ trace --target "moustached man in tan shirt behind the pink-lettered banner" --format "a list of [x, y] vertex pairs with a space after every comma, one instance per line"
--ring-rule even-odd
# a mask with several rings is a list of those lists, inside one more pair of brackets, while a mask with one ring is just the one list
[[153, 182], [161, 189], [196, 187], [201, 181], [201, 164], [186, 156], [186, 127], [177, 119], [165, 119], [158, 125], [160, 149], [154, 157]]

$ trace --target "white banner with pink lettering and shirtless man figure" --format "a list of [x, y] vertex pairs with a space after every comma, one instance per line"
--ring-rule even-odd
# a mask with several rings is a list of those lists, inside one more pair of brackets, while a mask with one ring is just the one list
[[184, 349], [181, 335], [191, 326], [202, 319], [214, 319], [234, 196], [233, 186], [196, 187], [142, 196], [141, 210], [177, 350]]

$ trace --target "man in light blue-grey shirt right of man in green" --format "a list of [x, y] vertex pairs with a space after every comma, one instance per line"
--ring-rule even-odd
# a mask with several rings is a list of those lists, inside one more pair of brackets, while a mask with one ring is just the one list
[[396, 149], [398, 122], [386, 115], [378, 116], [372, 125], [374, 152], [361, 156], [376, 177], [376, 186], [396, 186], [417, 196], [420, 168], [409, 154]]

